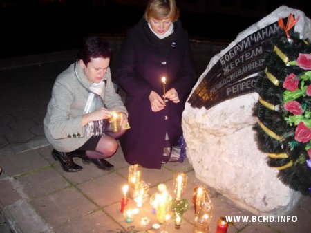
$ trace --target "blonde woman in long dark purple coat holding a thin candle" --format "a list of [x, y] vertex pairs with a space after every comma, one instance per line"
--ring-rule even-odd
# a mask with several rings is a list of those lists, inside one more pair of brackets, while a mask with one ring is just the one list
[[182, 136], [182, 111], [196, 73], [178, 17], [175, 0], [150, 0], [118, 55], [117, 82], [126, 91], [131, 124], [120, 142], [130, 164], [160, 169]]

